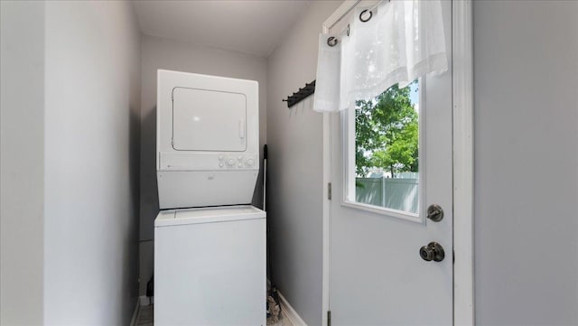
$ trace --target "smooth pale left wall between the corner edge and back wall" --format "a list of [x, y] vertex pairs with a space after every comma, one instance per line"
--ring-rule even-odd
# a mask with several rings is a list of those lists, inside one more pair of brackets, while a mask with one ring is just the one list
[[128, 325], [140, 33], [124, 1], [46, 2], [45, 17], [44, 323]]

